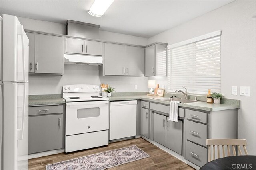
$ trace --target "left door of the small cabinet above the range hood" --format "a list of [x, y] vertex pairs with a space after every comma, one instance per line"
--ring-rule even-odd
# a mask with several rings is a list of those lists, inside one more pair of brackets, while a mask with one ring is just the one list
[[85, 41], [82, 39], [66, 39], [66, 53], [85, 54]]

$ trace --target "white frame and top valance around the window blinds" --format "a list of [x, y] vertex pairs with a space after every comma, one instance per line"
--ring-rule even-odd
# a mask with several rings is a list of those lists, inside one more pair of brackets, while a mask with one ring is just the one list
[[[186, 41], [182, 41], [182, 42], [179, 42], [179, 43], [175, 43], [175, 44], [172, 44], [172, 45], [168, 45], [167, 46], [167, 53], [168, 53], [168, 70], [167, 70], [167, 73], [168, 73], [168, 90], [166, 90], [166, 92], [175, 92], [174, 90], [171, 90], [170, 89], [170, 84], [169, 84], [169, 50], [172, 49], [172, 48], [176, 48], [176, 47], [180, 47], [180, 46], [183, 46], [183, 45], [188, 45], [188, 44], [191, 44], [191, 43], [195, 43], [197, 41], [202, 41], [202, 40], [205, 40], [205, 39], [209, 39], [209, 38], [213, 38], [213, 37], [216, 37], [216, 36], [221, 36], [221, 30], [218, 30], [218, 31], [214, 31], [212, 33], [208, 33], [208, 34], [205, 34], [205, 35], [201, 35], [201, 36], [198, 36], [198, 37], [195, 37], [195, 38], [192, 38], [192, 39], [188, 39]], [[182, 90], [182, 87], [181, 87], [181, 90]], [[189, 92], [189, 90], [188, 90]], [[206, 92], [190, 92], [190, 94], [207, 94], [208, 91]]]

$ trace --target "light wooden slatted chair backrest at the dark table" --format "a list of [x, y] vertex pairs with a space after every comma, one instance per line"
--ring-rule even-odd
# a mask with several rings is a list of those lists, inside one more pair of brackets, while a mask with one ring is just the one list
[[[238, 148], [238, 155], [242, 155], [240, 145], [243, 146], [244, 148], [244, 154], [248, 155], [248, 152], [245, 147], [247, 146], [246, 139], [206, 139], [206, 145], [208, 146], [208, 162], [215, 159], [216, 146], [217, 158], [220, 158], [220, 148], [222, 148], [222, 157], [231, 156], [230, 146], [232, 146], [234, 156], [236, 156], [236, 146]], [[227, 150], [227, 154], [225, 154], [225, 150]]]

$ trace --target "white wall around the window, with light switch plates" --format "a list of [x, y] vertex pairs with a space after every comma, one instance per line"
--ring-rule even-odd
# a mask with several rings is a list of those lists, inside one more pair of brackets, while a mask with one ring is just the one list
[[[160, 41], [170, 45], [222, 30], [221, 92], [225, 94], [226, 98], [240, 99], [238, 137], [247, 139], [249, 154], [256, 154], [255, 16], [256, 1], [234, 1], [155, 35], [148, 41], [148, 43]], [[238, 86], [238, 88], [239, 86], [250, 86], [251, 96], [239, 96], [239, 90], [237, 96], [231, 95], [231, 86]]]

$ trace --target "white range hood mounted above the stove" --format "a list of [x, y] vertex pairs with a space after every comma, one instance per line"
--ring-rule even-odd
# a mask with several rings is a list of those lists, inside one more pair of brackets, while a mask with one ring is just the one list
[[94, 55], [64, 54], [64, 64], [101, 65], [103, 57]]

